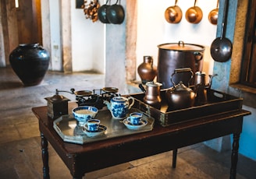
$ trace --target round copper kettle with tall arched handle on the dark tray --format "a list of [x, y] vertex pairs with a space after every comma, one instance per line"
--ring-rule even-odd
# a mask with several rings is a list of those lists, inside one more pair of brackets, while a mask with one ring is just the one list
[[[175, 69], [174, 72], [172, 73], [172, 76], [180, 72], [190, 72], [191, 73], [190, 79], [193, 78], [193, 72], [191, 68]], [[171, 76], [171, 81], [172, 81], [172, 76]], [[193, 107], [196, 93], [194, 93], [194, 91], [191, 90], [189, 87], [185, 86], [183, 82], [180, 82], [179, 84], [176, 85], [172, 81], [172, 84], [173, 86], [168, 90], [166, 90], [165, 92], [169, 110], [180, 110], [187, 107]]]

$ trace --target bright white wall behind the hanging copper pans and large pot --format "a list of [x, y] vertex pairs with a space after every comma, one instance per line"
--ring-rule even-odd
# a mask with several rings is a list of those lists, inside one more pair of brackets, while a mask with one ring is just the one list
[[[180, 0], [178, 4], [183, 11], [180, 23], [171, 24], [165, 20], [165, 9], [175, 4], [175, 1], [139, 0], [137, 18], [137, 67], [143, 62], [144, 55], [151, 55], [154, 64], [158, 64], [158, 44], [178, 43], [183, 40], [185, 44], [200, 44], [205, 47], [204, 68], [207, 74], [212, 74], [213, 59], [210, 46], [215, 40], [217, 26], [208, 21], [208, 13], [216, 8], [216, 0], [198, 0], [197, 6], [202, 9], [203, 18], [200, 23], [188, 23], [185, 17], [187, 9], [194, 6], [194, 1]], [[140, 80], [137, 75], [137, 80]]]

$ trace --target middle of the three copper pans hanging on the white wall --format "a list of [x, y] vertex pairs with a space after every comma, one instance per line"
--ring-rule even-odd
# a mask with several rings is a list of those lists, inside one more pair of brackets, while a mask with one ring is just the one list
[[186, 19], [189, 23], [200, 23], [203, 18], [203, 12], [201, 8], [196, 6], [197, 0], [194, 1], [194, 6], [187, 9]]

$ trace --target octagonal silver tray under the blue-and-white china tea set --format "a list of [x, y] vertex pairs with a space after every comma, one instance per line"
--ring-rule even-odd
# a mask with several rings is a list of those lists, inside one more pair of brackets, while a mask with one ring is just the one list
[[[137, 130], [130, 130], [126, 128], [126, 126], [123, 124], [123, 120], [112, 118], [110, 111], [106, 109], [98, 111], [98, 114], [95, 117], [100, 119], [101, 125], [104, 125], [107, 128], [105, 134], [88, 137], [83, 132], [83, 127], [76, 125], [76, 119], [73, 118], [73, 114], [67, 114], [57, 118], [53, 122], [53, 128], [55, 128], [55, 131], [59, 134], [64, 142], [72, 142], [76, 144], [84, 144], [88, 142], [111, 139], [123, 135], [133, 135], [140, 132], [151, 131], [153, 129], [155, 119], [150, 117], [148, 114], [145, 114], [143, 111], [135, 108], [131, 108], [129, 114], [135, 111], [143, 113], [143, 118], [148, 119], [148, 124]], [[127, 114], [127, 116], [129, 116], [129, 114]]]

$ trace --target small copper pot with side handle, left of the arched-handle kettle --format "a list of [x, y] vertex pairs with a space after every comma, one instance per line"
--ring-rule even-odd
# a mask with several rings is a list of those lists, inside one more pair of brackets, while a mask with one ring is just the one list
[[144, 89], [144, 86], [142, 84], [139, 85], [140, 90], [145, 93], [145, 96], [143, 98], [144, 102], [151, 105], [152, 107], [160, 109], [162, 101], [160, 96], [160, 88], [162, 86], [162, 83], [146, 82], [145, 86], [146, 90]]

